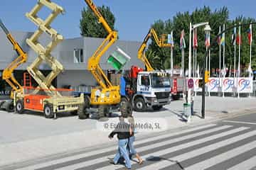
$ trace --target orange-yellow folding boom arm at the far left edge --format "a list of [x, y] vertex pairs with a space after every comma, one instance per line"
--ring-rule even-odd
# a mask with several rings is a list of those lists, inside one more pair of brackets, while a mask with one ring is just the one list
[[[7, 38], [11, 42], [11, 44], [14, 46], [14, 50], [17, 52], [18, 57], [9, 64], [6, 69], [4, 69], [3, 72], [3, 79], [11, 86], [13, 91], [23, 93], [23, 88], [21, 84], [18, 83], [18, 81], [14, 78], [13, 72], [14, 69], [16, 69], [20, 64], [26, 62], [27, 55], [26, 52], [24, 52], [20, 45], [18, 45], [18, 42], [14, 39], [14, 37], [11, 35], [9, 30], [4, 26], [4, 23], [0, 20], [0, 27], [4, 30], [4, 33], [6, 33]], [[11, 94], [11, 98], [13, 98], [13, 94]]]

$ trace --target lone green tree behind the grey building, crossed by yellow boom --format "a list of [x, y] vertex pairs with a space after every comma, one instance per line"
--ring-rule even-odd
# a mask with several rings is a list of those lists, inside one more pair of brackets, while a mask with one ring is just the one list
[[[114, 30], [115, 18], [114, 14], [110, 11], [110, 7], [102, 6], [98, 7], [100, 13], [105, 18], [110, 28]], [[99, 19], [92, 12], [90, 7], [82, 9], [82, 18], [80, 19], [81, 35], [85, 37], [93, 38], [106, 38], [108, 33], [101, 23], [98, 23]]]

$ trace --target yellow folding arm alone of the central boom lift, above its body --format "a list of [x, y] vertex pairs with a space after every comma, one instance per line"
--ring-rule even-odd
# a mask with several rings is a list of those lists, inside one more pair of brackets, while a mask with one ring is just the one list
[[95, 13], [99, 22], [102, 23], [102, 26], [105, 28], [105, 30], [107, 30], [107, 33], [109, 33], [100, 47], [98, 47], [92, 57], [90, 57], [87, 68], [90, 70], [90, 72], [92, 72], [92, 75], [95, 77], [96, 81], [100, 84], [102, 89], [111, 88], [112, 84], [110, 80], [107, 79], [107, 76], [100, 68], [100, 58], [117, 40], [117, 32], [110, 28], [110, 26], [107, 24], [107, 21], [105, 21], [105, 18], [103, 18], [102, 14], [97, 9], [97, 6], [95, 6], [91, 0], [85, 0], [85, 2]]

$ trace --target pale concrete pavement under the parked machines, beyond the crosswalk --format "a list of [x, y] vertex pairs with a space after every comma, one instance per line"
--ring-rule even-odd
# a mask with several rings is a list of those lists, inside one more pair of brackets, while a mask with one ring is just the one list
[[[161, 111], [134, 112], [136, 118], [164, 118], [168, 130], [193, 127], [220, 118], [232, 117], [256, 111], [256, 98], [206, 97], [206, 119], [201, 115], [201, 97], [194, 100], [191, 123], [181, 119], [183, 101], [173, 101]], [[41, 113], [18, 115], [0, 111], [0, 167], [31, 159], [53, 157], [55, 154], [68, 154], [85, 149], [116, 145], [107, 138], [109, 132], [96, 129], [97, 120], [78, 120], [65, 115], [57, 120], [43, 118]], [[117, 115], [114, 114], [114, 115]], [[111, 118], [111, 119], [117, 119]], [[160, 135], [161, 132], [139, 132], [137, 138]]]

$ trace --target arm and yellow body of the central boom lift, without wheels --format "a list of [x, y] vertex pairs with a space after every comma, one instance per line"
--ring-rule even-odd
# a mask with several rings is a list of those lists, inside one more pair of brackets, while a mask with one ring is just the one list
[[[117, 32], [112, 30], [107, 24], [107, 21], [102, 16], [97, 6], [92, 2], [92, 0], [85, 0], [86, 4], [91, 8], [91, 10], [97, 16], [98, 22], [102, 23], [102, 26], [107, 31], [108, 35], [105, 40], [103, 40], [100, 47], [97, 48], [95, 53], [90, 57], [87, 69], [90, 70], [93, 77], [95, 77], [100, 88], [92, 89], [90, 96], [90, 104], [92, 105], [114, 105], [120, 102], [121, 96], [119, 94], [119, 86], [113, 86], [109, 79], [107, 79], [106, 74], [100, 67], [100, 59], [102, 55], [114, 44], [117, 40]], [[100, 95], [99, 92], [100, 91]]]

